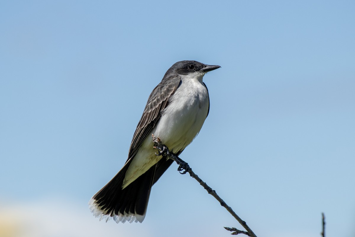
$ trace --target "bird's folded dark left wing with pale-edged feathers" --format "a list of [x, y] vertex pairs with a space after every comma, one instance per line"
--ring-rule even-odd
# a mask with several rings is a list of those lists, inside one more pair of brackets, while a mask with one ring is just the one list
[[160, 119], [160, 112], [168, 106], [170, 96], [175, 93], [180, 83], [180, 76], [175, 75], [163, 79], [158, 86], [154, 88], [148, 98], [142, 118], [133, 135], [127, 161], [136, 155], [144, 139], [146, 139], [147, 135], [151, 133], [155, 124], [157, 124]]

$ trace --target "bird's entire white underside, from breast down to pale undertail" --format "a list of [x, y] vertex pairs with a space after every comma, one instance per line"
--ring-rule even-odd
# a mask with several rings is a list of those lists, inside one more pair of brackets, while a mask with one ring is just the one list
[[[208, 106], [208, 92], [202, 78], [201, 81], [183, 81], [162, 112], [162, 117], [152, 133], [159, 137], [170, 151], [184, 150], [200, 132], [207, 117]], [[155, 152], [152, 136], [149, 134], [133, 158], [122, 188], [127, 187], [162, 158], [156, 156]]]

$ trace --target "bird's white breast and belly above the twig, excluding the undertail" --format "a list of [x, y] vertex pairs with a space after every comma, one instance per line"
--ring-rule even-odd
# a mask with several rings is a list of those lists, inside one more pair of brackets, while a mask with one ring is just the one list
[[200, 132], [208, 112], [207, 88], [197, 79], [185, 79], [169, 101], [155, 127], [158, 136], [171, 151], [189, 145]]

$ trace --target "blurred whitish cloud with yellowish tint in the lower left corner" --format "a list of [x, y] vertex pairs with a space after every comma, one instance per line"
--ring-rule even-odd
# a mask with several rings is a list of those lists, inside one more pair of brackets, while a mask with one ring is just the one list
[[99, 221], [88, 206], [65, 200], [0, 202], [1, 237], [142, 236], [150, 232], [142, 225], [139, 230], [133, 225]]

